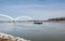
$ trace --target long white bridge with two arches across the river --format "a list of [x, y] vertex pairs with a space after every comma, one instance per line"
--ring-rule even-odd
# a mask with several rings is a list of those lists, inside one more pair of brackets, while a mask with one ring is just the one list
[[13, 18], [9, 15], [3, 15], [3, 14], [0, 14], [0, 23], [23, 23], [23, 22], [43, 22], [41, 19], [36, 19], [34, 20], [31, 17], [29, 16], [20, 16], [17, 18]]

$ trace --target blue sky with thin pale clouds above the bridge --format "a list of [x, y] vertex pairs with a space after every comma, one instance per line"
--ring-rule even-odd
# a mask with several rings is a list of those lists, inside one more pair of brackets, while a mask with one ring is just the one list
[[0, 0], [0, 14], [42, 19], [63, 17], [65, 0]]

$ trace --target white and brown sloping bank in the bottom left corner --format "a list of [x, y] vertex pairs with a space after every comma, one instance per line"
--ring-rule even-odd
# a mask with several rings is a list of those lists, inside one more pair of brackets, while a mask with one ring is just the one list
[[5, 41], [30, 41], [30, 40], [26, 40], [24, 38], [20, 38], [20, 37], [14, 37], [11, 35], [5, 35], [0, 32], [0, 41], [5, 40]]

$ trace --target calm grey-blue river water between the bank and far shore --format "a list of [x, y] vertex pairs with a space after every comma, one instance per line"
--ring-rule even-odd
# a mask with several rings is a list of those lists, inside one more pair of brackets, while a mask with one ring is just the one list
[[43, 23], [0, 23], [0, 32], [31, 41], [65, 41], [65, 22]]

